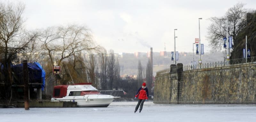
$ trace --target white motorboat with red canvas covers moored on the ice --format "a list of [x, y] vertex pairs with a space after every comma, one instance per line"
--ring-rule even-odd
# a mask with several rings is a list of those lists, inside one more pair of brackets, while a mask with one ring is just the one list
[[77, 107], [108, 107], [115, 98], [120, 98], [119, 92], [126, 94], [123, 90], [98, 91], [92, 83], [58, 85], [54, 86], [51, 101], [77, 102]]

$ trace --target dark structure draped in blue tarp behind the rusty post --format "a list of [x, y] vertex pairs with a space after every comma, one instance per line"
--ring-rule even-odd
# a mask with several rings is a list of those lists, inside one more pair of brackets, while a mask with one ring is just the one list
[[[3, 71], [3, 64], [0, 63], [0, 87], [4, 87], [4, 77], [6, 75]], [[23, 99], [24, 96], [24, 82], [23, 82], [23, 64], [12, 65], [12, 98], [13, 99]], [[28, 63], [28, 84], [29, 93], [31, 97], [42, 99], [42, 91], [45, 87], [45, 71], [38, 62]], [[5, 91], [0, 88], [0, 97], [4, 96]], [[36, 89], [36, 92], [35, 92]], [[36, 93], [36, 94], [35, 94]]]

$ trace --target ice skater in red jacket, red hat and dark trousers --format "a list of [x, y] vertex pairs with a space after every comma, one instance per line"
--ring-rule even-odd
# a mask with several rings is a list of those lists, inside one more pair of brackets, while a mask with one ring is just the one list
[[[138, 97], [139, 96], [139, 97]], [[139, 106], [140, 106], [140, 112], [142, 110], [143, 107], [143, 103], [145, 102], [145, 100], [148, 100], [148, 88], [146, 88], [146, 83], [142, 83], [142, 87], [139, 88], [138, 92], [135, 95], [135, 99], [138, 97], [138, 104], [136, 105], [136, 108], [134, 110], [134, 113], [138, 110]]]

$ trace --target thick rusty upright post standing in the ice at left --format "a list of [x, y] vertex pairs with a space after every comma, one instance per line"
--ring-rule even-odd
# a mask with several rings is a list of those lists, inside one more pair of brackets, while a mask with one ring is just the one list
[[23, 60], [23, 82], [24, 82], [24, 97], [25, 97], [25, 110], [29, 110], [28, 98], [28, 62]]

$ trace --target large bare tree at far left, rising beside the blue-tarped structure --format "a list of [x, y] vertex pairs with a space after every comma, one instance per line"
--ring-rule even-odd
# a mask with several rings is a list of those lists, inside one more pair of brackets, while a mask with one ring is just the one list
[[23, 29], [22, 14], [25, 5], [19, 4], [4, 4], [0, 2], [0, 42], [3, 53], [1, 63], [4, 66], [4, 82], [6, 88], [6, 98], [12, 98], [12, 69], [11, 62], [28, 47], [29, 43], [36, 38], [36, 33], [28, 33]]

